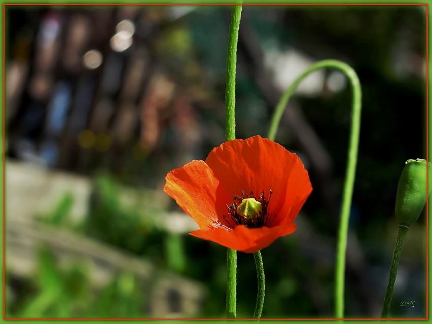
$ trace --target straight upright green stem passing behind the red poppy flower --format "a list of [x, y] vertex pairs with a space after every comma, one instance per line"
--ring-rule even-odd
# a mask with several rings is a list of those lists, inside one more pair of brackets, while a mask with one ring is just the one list
[[[237, 64], [237, 41], [240, 27], [241, 6], [234, 6], [231, 14], [231, 23], [228, 39], [227, 53], [227, 89], [226, 101], [226, 132], [225, 139], [235, 139], [235, 70]], [[237, 284], [237, 251], [227, 251], [228, 287], [227, 287], [227, 316], [235, 318], [236, 315], [236, 284]]]

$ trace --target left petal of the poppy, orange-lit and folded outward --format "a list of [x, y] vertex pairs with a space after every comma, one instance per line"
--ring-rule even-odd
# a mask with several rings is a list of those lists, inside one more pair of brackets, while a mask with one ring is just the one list
[[204, 161], [193, 160], [166, 176], [164, 191], [201, 229], [221, 222], [229, 201], [219, 180]]

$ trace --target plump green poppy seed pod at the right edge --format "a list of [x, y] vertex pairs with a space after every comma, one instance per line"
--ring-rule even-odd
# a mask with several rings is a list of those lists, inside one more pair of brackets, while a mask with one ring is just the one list
[[[432, 168], [429, 163], [428, 175], [431, 179]], [[396, 204], [394, 212], [399, 225], [410, 227], [423, 211], [426, 199], [432, 189], [432, 183], [427, 185], [426, 195], [426, 160], [408, 160], [400, 174], [397, 185]]]

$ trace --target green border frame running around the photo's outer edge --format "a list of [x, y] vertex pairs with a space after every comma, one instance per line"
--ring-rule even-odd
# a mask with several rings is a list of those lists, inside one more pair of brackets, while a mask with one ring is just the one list
[[[93, 0], [93, 1], [86, 1], [86, 0], [70, 0], [70, 1], [62, 1], [62, 0], [22, 0], [22, 1], [17, 1], [17, 0], [10, 0], [10, 1], [5, 1], [5, 0], [0, 0], [0, 4], [2, 5], [2, 8], [3, 8], [3, 14], [2, 14], [2, 18], [1, 18], [1, 20], [2, 20], [2, 23], [1, 23], [1, 28], [2, 28], [2, 58], [3, 58], [3, 60], [5, 60], [5, 48], [4, 48], [4, 43], [5, 43], [5, 30], [4, 30], [4, 26], [5, 26], [5, 21], [4, 21], [4, 17], [5, 17], [5, 4], [8, 4], [8, 5], [13, 5], [13, 4], [23, 4], [23, 3], [25, 3], [25, 4], [28, 4], [28, 5], [31, 5], [31, 4], [58, 4], [59, 6], [62, 6], [62, 5], [65, 5], [65, 4], [77, 4], [77, 5], [79, 5], [79, 4], [88, 4], [88, 3], [91, 3], [91, 4], [96, 4], [96, 3], [100, 3], [100, 4], [104, 4], [104, 5], [109, 5], [109, 4], [115, 4], [115, 5], [121, 5], [121, 4], [172, 4], [172, 5], [178, 5], [178, 4], [191, 4], [191, 5], [194, 5], [194, 4], [205, 4], [205, 5], [211, 5], [211, 4], [217, 4], [217, 5], [229, 5], [229, 4], [234, 4], [234, 3], [241, 3], [241, 2], [239, 2], [238, 0], [232, 0], [232, 1], [229, 1], [229, 0], [213, 0], [213, 1], [211, 1], [211, 0], [184, 0], [184, 1], [178, 1], [178, 0], [165, 0], [165, 1], [161, 1], [161, 0], [150, 0], [150, 1], [139, 1], [139, 0], [130, 0], [130, 1], [127, 1], [127, 0]], [[301, 6], [301, 5], [318, 5], [318, 6], [320, 6], [320, 5], [324, 5], [324, 4], [335, 4], [335, 5], [337, 5], [337, 4], [340, 4], [340, 5], [349, 5], [349, 6], [352, 6], [352, 5], [356, 5], [356, 4], [369, 4], [369, 5], [380, 5], [380, 4], [382, 4], [382, 5], [389, 5], [389, 4], [392, 4], [392, 5], [414, 5], [414, 4], [426, 4], [427, 6], [426, 6], [426, 14], [427, 14], [427, 21], [429, 21], [429, 18], [430, 18], [430, 13], [429, 13], [429, 10], [432, 8], [432, 0], [420, 0], [420, 1], [412, 1], [412, 0], [405, 0], [405, 1], [403, 1], [403, 0], [393, 0], [393, 1], [391, 1], [391, 0], [381, 0], [381, 1], [374, 1], [374, 0], [358, 0], [358, 1], [353, 1], [353, 0], [246, 0], [246, 1], [244, 1], [243, 2], [244, 4], [281, 4], [281, 5], [283, 5], [283, 4], [291, 4], [291, 5], [293, 5], [293, 4], [296, 4], [296, 5], [299, 5], [299, 6]], [[426, 31], [426, 38], [427, 38], [427, 42], [426, 42], [426, 44], [428, 44], [428, 45], [426, 45], [427, 46], [427, 49], [426, 49], [426, 55], [427, 55], [427, 61], [429, 61], [428, 60], [428, 58], [429, 58], [429, 56], [430, 56], [430, 54], [429, 54], [429, 49], [430, 49], [430, 44], [431, 44], [431, 40], [432, 40], [432, 38], [431, 38], [431, 33], [430, 33], [430, 22], [429, 23], [426, 23], [426, 28], [427, 28], [427, 31]], [[5, 66], [4, 66], [4, 64], [2, 64], [2, 67], [1, 67], [1, 69], [2, 69], [2, 75], [3, 75], [3, 73], [5, 73], [5, 71], [4, 71], [4, 69], [5, 69]], [[428, 79], [429, 79], [429, 75], [430, 75], [430, 65], [429, 64], [426, 64], [426, 69], [427, 69], [427, 76], [426, 76], [426, 85], [425, 85], [425, 87], [426, 87], [426, 101], [427, 101], [427, 103], [426, 103], [426, 107], [429, 107], [429, 102], [430, 102], [430, 88], [429, 88], [429, 86], [428, 86]], [[4, 89], [5, 89], [5, 76], [3, 75], [3, 78], [2, 78], [2, 89], [3, 89], [3, 91], [2, 91], [2, 93], [1, 93], [1, 99], [2, 99], [2, 103], [3, 103], [3, 113], [2, 114], [0, 114], [0, 122], [1, 122], [1, 125], [2, 125], [2, 140], [0, 140], [0, 147], [1, 147], [1, 149], [2, 149], [2, 152], [3, 152], [3, 149], [4, 149], [4, 140], [5, 140], [5, 138], [4, 138], [4, 136], [5, 136], [5, 129], [4, 129], [4, 109], [5, 109], [5, 98], [4, 98]], [[424, 130], [424, 135], [425, 135], [425, 137], [426, 137], [426, 141], [425, 141], [425, 156], [426, 156], [426, 159], [429, 161], [429, 156], [428, 156], [428, 152], [432, 152], [432, 132], [430, 131], [430, 125], [432, 125], [432, 114], [431, 113], [429, 113], [428, 112], [428, 110], [429, 109], [425, 109], [425, 116], [426, 116], [426, 118], [425, 118], [425, 123], [421, 126], [422, 128], [423, 128], [423, 130]], [[4, 153], [3, 153], [4, 154]], [[3, 236], [3, 230], [4, 230], [4, 225], [5, 225], [5, 215], [4, 215], [4, 213], [5, 213], [5, 211], [6, 211], [6, 207], [5, 207], [5, 205], [6, 205], [6, 200], [5, 200], [5, 196], [6, 196], [6, 192], [5, 192], [5, 182], [4, 182], [4, 177], [5, 177], [5, 165], [4, 165], [4, 155], [3, 155], [3, 158], [2, 158], [2, 161], [1, 161], [1, 166], [2, 166], [2, 170], [3, 170], [3, 172], [1, 172], [1, 180], [2, 180], [2, 183], [3, 183], [3, 186], [2, 186], [2, 188], [1, 188], [1, 196], [3, 196], [3, 204], [2, 204], [2, 219], [3, 219], [3, 221], [2, 221], [2, 240], [0, 240], [0, 244], [1, 244], [1, 250], [3, 251], [3, 248], [4, 248], [4, 242], [5, 242], [5, 238], [4, 238], [4, 236]], [[432, 184], [429, 184], [429, 185], [432, 185]], [[428, 211], [430, 210], [430, 208], [432, 207], [432, 198], [430, 198], [429, 199], [429, 201], [428, 201]], [[428, 212], [428, 214], [430, 214], [429, 212]], [[430, 230], [430, 221], [428, 222], [428, 229]], [[427, 246], [430, 246], [430, 242], [432, 241], [431, 239], [430, 239], [430, 237], [431, 237], [431, 235], [427, 235], [426, 236], [426, 240], [428, 239], [428, 242], [427, 242]], [[429, 257], [429, 255], [430, 255], [430, 253], [427, 255], [427, 263], [428, 263], [428, 274], [427, 274], [427, 276], [428, 276], [428, 279], [430, 279], [430, 274], [431, 274], [431, 270], [430, 270], [430, 257]], [[4, 260], [5, 260], [5, 258], [4, 258], [4, 253], [3, 253], [3, 255], [2, 255], [2, 269], [3, 269], [3, 266], [4, 266]], [[4, 274], [3, 274], [3, 276], [4, 276]], [[429, 281], [429, 280], [428, 280]], [[1, 281], [2, 283], [0, 284], [1, 285], [1, 288], [2, 288], [2, 292], [0, 293], [0, 305], [1, 305], [1, 307], [2, 307], [2, 317], [1, 317], [1, 322], [9, 322], [9, 323], [11, 323], [11, 322], [18, 322], [18, 323], [44, 323], [44, 322], [57, 322], [57, 323], [65, 323], [65, 322], [76, 322], [76, 323], [88, 323], [88, 324], [94, 324], [94, 323], [99, 323], [99, 322], [103, 322], [103, 323], [107, 323], [107, 322], [119, 322], [119, 323], [134, 323], [134, 322], [138, 322], [138, 321], [144, 321], [144, 320], [139, 320], [139, 319], [129, 319], [129, 320], [127, 320], [127, 319], [119, 319], [119, 320], [116, 320], [116, 319], [105, 319], [105, 320], [100, 320], [100, 319], [95, 319], [95, 320], [79, 320], [79, 319], [70, 319], [70, 320], [68, 320], [68, 319], [60, 319], [60, 320], [50, 320], [50, 321], [47, 321], [47, 320], [44, 320], [44, 319], [32, 319], [32, 320], [25, 320], [25, 319], [7, 319], [7, 318], [5, 318], [4, 316], [6, 315], [5, 314], [5, 309], [3, 309], [3, 283], [4, 283], [4, 280], [2, 280]], [[428, 288], [430, 288], [430, 285], [428, 285]], [[428, 289], [428, 292], [430, 292], [430, 289]], [[426, 312], [428, 313], [428, 310], [430, 309], [430, 305], [432, 304], [431, 303], [431, 296], [429, 296], [429, 298], [427, 299], [427, 302], [428, 302], [428, 305], [426, 305]], [[429, 314], [427, 315], [427, 316], [429, 316]], [[389, 323], [400, 323], [400, 322], [410, 322], [410, 323], [418, 323], [419, 321], [420, 322], [424, 322], [424, 321], [427, 321], [427, 322], [429, 322], [429, 320], [430, 320], [430, 318], [423, 318], [423, 319], [421, 319], [421, 318], [419, 318], [419, 319], [416, 319], [416, 320], [405, 320], [405, 319], [398, 319], [398, 320], [386, 320], [386, 322], [389, 322]], [[308, 322], [315, 322], [315, 323], [334, 323], [335, 321], [340, 321], [340, 320], [337, 320], [337, 319], [334, 319], [334, 320], [323, 320], [323, 319], [320, 319], [320, 318], [317, 318], [317, 319], [314, 319], [314, 320], [310, 320], [310, 319], [305, 319], [305, 320], [297, 320], [297, 319], [294, 319], [294, 320], [279, 320], [279, 319], [276, 319], [276, 320], [266, 320], [265, 318], [264, 319], [262, 319], [262, 321], [264, 321], [264, 322], [271, 322], [271, 323], [308, 323]], [[350, 319], [350, 320], [347, 320], [347, 322], [348, 323], [364, 323], [364, 322], [366, 322], [366, 323], [372, 323], [372, 322], [381, 322], [382, 320], [374, 320], [374, 319]], [[147, 320], [147, 322], [150, 322], [150, 323], [172, 323], [172, 324], [177, 324], [177, 323], [187, 323], [187, 322], [192, 322], [192, 323], [194, 323], [194, 322], [206, 322], [206, 323], [219, 323], [219, 322], [227, 322], [227, 323], [229, 323], [229, 322], [231, 322], [230, 320], [224, 320], [224, 319], [221, 319], [221, 320], [217, 320], [217, 319], [213, 319], [213, 320], [206, 320], [206, 319], [203, 319], [203, 320], [199, 320], [199, 319], [197, 319], [197, 320], [190, 320], [190, 319], [185, 319], [185, 320], [158, 320], [158, 319], [151, 319], [151, 320]], [[251, 320], [236, 320], [236, 322], [241, 322], [241, 323], [252, 323], [252, 322], [256, 322], [256, 321], [251, 321]]]

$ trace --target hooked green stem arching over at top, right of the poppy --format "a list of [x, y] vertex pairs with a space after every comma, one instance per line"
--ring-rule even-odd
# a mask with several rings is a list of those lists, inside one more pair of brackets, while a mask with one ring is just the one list
[[336, 266], [335, 266], [335, 282], [334, 282], [334, 298], [335, 298], [335, 317], [344, 317], [344, 282], [345, 282], [345, 258], [347, 250], [348, 237], [348, 221], [350, 217], [351, 201], [354, 188], [355, 170], [357, 164], [358, 140], [360, 135], [360, 116], [361, 116], [361, 86], [360, 81], [355, 71], [347, 64], [336, 60], [324, 60], [313, 64], [304, 71], [297, 79], [288, 87], [282, 95], [282, 98], [277, 104], [268, 132], [268, 138], [274, 140], [277, 128], [281, 121], [282, 114], [285, 110], [288, 100], [291, 98], [299, 83], [310, 73], [324, 69], [334, 68], [344, 73], [351, 83], [352, 90], [352, 116], [351, 130], [348, 144], [348, 162], [345, 173], [344, 190], [342, 194], [342, 207], [340, 213], [340, 224], [337, 234], [336, 247]]

